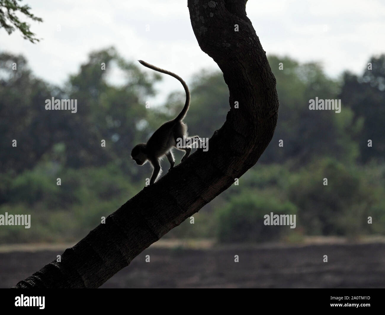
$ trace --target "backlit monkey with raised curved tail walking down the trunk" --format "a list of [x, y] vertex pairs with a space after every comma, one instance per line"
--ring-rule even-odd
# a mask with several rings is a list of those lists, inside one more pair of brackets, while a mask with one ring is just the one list
[[[152, 185], [161, 173], [161, 165], [159, 161], [164, 155], [166, 155], [167, 160], [169, 160], [170, 162], [169, 170], [174, 167], [175, 160], [174, 155], [172, 155], [172, 148], [177, 148], [176, 143], [178, 141], [181, 141], [183, 137], [186, 137], [186, 140], [190, 140], [190, 142], [186, 141], [187, 143], [193, 143], [191, 140], [198, 140], [200, 142], [201, 139], [198, 136], [188, 137], [187, 125], [182, 122], [182, 119], [186, 115], [190, 105], [190, 92], [186, 82], [184, 82], [183, 79], [175, 73], [155, 67], [154, 65], [150, 65], [149, 63], [144, 62], [143, 60], [138, 61], [147, 68], [161, 73], [166, 73], [168, 75], [171, 75], [171, 77], [178, 79], [179, 82], [182, 83], [183, 88], [186, 92], [186, 102], [184, 103], [184, 107], [179, 113], [179, 115], [177, 115], [175, 119], [170, 120], [169, 122], [166, 122], [161, 125], [161, 127], [159, 127], [152, 134], [147, 143], [139, 143], [131, 151], [131, 158], [138, 165], [143, 165], [147, 161], [151, 163], [152, 167], [154, 168], [150, 179], [150, 185]], [[185, 146], [183, 148], [177, 149], [185, 152], [181, 160], [181, 162], [183, 162], [189, 156], [191, 152], [191, 146]]]

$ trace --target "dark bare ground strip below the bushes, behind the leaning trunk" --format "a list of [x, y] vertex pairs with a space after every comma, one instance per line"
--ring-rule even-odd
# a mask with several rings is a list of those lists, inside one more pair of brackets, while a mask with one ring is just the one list
[[[60, 253], [0, 253], [0, 287], [12, 287]], [[102, 286], [126, 287], [384, 288], [385, 244], [148, 248]]]

